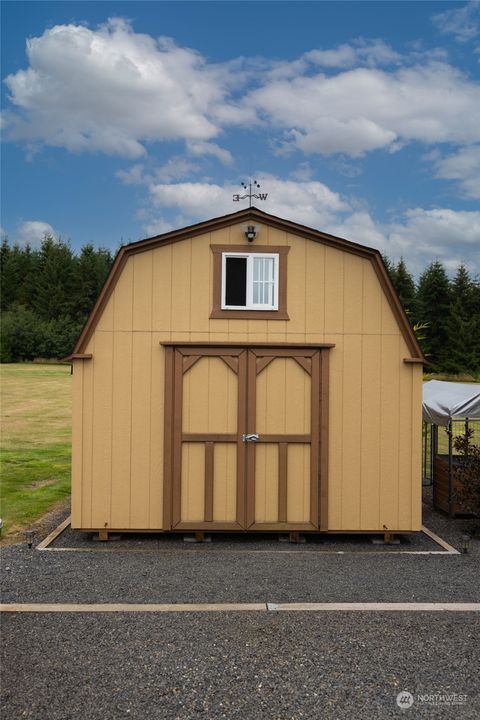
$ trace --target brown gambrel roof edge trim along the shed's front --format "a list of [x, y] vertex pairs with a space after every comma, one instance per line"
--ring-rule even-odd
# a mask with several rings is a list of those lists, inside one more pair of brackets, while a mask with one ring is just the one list
[[155, 235], [154, 237], [146, 238], [145, 240], [139, 240], [138, 242], [124, 245], [119, 250], [117, 257], [115, 258], [112, 269], [110, 270], [100, 295], [98, 296], [98, 300], [95, 303], [87, 322], [85, 323], [72, 354], [65, 359], [73, 360], [75, 355], [82, 354], [130, 255], [146, 252], [147, 250], [152, 250], [153, 248], [161, 245], [169, 245], [171, 243], [187, 240], [188, 238], [196, 235], [214, 232], [215, 230], [220, 230], [232, 223], [247, 222], [252, 220], [265, 222], [270, 227], [277, 228], [278, 230], [299, 235], [300, 237], [304, 237], [308, 240], [320, 242], [338, 250], [343, 250], [345, 252], [352, 253], [353, 255], [359, 255], [360, 257], [369, 259], [373, 264], [375, 273], [397, 319], [412, 358], [417, 359], [417, 361], [425, 361], [417, 338], [415, 337], [415, 333], [412, 330], [410, 322], [405, 314], [405, 310], [403, 309], [397, 292], [392, 285], [382, 256], [378, 250], [374, 250], [373, 248], [369, 248], [365, 245], [359, 245], [358, 243], [351, 242], [350, 240], [336, 237], [335, 235], [329, 235], [328, 233], [321, 232], [320, 230], [314, 230], [313, 228], [309, 228], [306, 225], [300, 225], [299, 223], [292, 222], [291, 220], [284, 220], [276, 215], [269, 215], [256, 207], [245, 208], [244, 210], [239, 210], [235, 213], [230, 213], [218, 218], [196, 223], [195, 225], [189, 225], [188, 227], [181, 228], [180, 230], [172, 230], [170, 232], [163, 233], [162, 235]]

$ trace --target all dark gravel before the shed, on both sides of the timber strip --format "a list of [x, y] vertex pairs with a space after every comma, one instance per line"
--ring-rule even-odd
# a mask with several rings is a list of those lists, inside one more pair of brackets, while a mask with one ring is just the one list
[[[424, 522], [457, 547], [471, 525], [428, 508]], [[348, 549], [340, 538], [162, 542], [2, 548], [2, 600], [480, 602], [478, 541], [468, 555], [359, 552], [358, 539], [326, 552]], [[8, 720], [480, 717], [480, 613], [6, 614], [2, 626]], [[413, 708], [398, 708], [401, 690]], [[418, 699], [435, 693], [467, 700]]]

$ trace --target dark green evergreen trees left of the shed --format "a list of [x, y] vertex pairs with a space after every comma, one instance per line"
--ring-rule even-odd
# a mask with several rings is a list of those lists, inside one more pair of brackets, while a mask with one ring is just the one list
[[41, 247], [0, 247], [1, 362], [59, 359], [75, 345], [113, 258], [85, 245], [75, 254], [61, 239]]

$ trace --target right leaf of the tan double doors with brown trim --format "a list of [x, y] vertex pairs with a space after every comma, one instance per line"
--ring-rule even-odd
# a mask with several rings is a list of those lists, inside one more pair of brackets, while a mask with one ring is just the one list
[[320, 353], [248, 354], [247, 527], [316, 529], [319, 489]]

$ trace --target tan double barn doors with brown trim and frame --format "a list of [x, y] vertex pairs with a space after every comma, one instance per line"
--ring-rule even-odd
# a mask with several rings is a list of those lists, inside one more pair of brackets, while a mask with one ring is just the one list
[[166, 353], [164, 527], [323, 529], [325, 350]]

